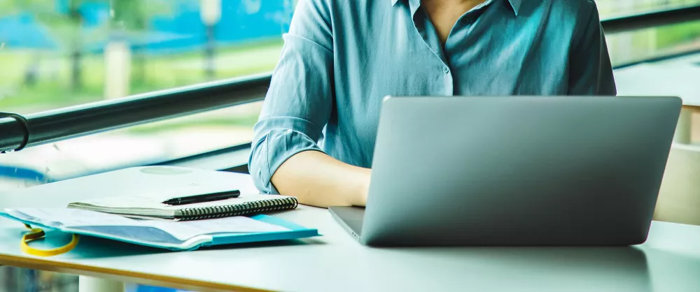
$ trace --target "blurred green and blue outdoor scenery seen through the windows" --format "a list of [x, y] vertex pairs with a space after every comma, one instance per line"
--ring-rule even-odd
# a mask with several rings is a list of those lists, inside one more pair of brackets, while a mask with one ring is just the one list
[[[700, 4], [596, 2], [603, 19]], [[269, 73], [295, 3], [0, 0], [0, 111], [29, 114]], [[621, 66], [700, 50], [700, 21], [606, 38]], [[0, 191], [250, 143], [259, 112], [260, 102], [249, 103], [3, 154]], [[73, 275], [0, 267], [0, 291], [77, 291], [77, 283]]]

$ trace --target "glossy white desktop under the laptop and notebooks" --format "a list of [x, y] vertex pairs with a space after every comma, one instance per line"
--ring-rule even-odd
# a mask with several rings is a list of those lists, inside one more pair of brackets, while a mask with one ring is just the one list
[[[56, 207], [87, 195], [0, 194], [0, 207]], [[0, 264], [196, 291], [700, 291], [700, 227], [654, 222], [626, 248], [363, 247], [325, 209], [277, 216], [322, 237], [170, 252], [97, 238], [68, 254], [22, 254], [25, 228], [0, 219]], [[56, 238], [50, 236], [50, 238]]]

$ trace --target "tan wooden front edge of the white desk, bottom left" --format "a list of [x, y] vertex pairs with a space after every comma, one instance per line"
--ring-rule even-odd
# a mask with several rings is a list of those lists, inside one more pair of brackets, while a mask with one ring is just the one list
[[254, 289], [244, 286], [234, 286], [219, 284], [216, 282], [197, 281], [180, 277], [169, 277], [142, 272], [132, 272], [129, 270], [117, 270], [111, 268], [97, 268], [90, 265], [80, 265], [76, 263], [64, 263], [59, 261], [47, 261], [41, 258], [25, 258], [20, 256], [8, 256], [0, 254], [0, 265], [9, 265], [18, 268], [28, 268], [33, 270], [45, 270], [50, 272], [60, 272], [103, 279], [113, 279], [120, 282], [131, 282], [152, 286], [165, 286], [174, 289], [184, 289], [202, 292], [221, 291], [241, 291], [241, 292], [261, 292], [268, 290]]

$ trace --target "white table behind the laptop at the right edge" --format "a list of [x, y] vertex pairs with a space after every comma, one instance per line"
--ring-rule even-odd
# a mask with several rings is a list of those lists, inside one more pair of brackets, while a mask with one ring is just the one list
[[678, 96], [683, 107], [675, 131], [675, 142], [692, 142], [692, 113], [700, 112], [700, 58], [640, 64], [615, 71], [618, 96]]

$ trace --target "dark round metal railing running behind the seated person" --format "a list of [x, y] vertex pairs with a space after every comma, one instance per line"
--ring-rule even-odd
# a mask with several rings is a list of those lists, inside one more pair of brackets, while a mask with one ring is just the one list
[[[606, 34], [613, 34], [692, 20], [700, 20], [700, 6], [617, 17], [601, 24]], [[25, 147], [259, 101], [270, 78], [267, 74], [221, 80], [26, 115]], [[0, 119], [0, 151], [17, 149], [24, 138], [20, 121]]]

